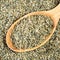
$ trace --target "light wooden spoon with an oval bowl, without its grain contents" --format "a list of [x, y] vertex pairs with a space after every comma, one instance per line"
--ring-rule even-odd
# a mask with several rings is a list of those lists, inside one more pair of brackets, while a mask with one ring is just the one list
[[[17, 49], [13, 43], [12, 43], [12, 39], [10, 38], [11, 37], [11, 34], [12, 34], [12, 31], [15, 27], [15, 25], [20, 22], [20, 20], [22, 20], [23, 18], [27, 18], [29, 16], [33, 16], [33, 15], [44, 15], [44, 16], [49, 16], [51, 17], [51, 19], [53, 20], [53, 29], [50, 33], [50, 35], [47, 36], [47, 38], [40, 44], [40, 45], [37, 45], [36, 47], [33, 47], [33, 48], [29, 48], [29, 49]], [[6, 44], [7, 46], [15, 51], [15, 52], [26, 52], [26, 51], [32, 51], [32, 50], [35, 50], [41, 46], [43, 46], [46, 42], [49, 41], [49, 39], [51, 38], [51, 36], [53, 35], [55, 29], [56, 29], [56, 26], [58, 24], [58, 21], [59, 21], [59, 18], [60, 18], [60, 4], [55, 7], [54, 9], [52, 10], [49, 10], [49, 11], [38, 11], [38, 12], [32, 12], [32, 13], [29, 13], [23, 17], [21, 17], [20, 19], [18, 19], [16, 22], [14, 22], [11, 27], [8, 29], [7, 31], [7, 34], [6, 34]]]

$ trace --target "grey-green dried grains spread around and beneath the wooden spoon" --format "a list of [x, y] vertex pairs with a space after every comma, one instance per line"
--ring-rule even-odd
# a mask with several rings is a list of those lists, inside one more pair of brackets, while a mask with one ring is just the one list
[[34, 51], [16, 53], [6, 45], [6, 32], [19, 17], [33, 11], [53, 9], [60, 0], [0, 0], [1, 60], [60, 60], [60, 21], [49, 42]]

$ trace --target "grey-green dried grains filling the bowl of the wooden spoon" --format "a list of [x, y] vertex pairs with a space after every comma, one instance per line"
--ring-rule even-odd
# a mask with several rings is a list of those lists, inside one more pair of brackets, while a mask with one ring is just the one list
[[53, 28], [51, 18], [35, 15], [24, 18], [12, 33], [12, 41], [17, 48], [31, 48], [41, 43]]

